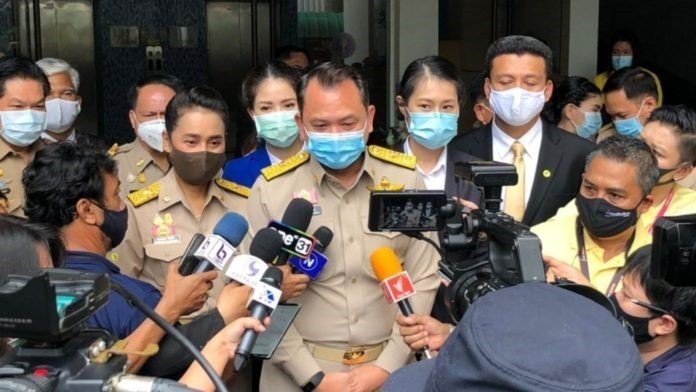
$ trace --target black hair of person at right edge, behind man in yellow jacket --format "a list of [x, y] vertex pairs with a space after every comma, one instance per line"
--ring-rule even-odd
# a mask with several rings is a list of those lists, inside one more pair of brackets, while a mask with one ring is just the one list
[[666, 105], [650, 113], [647, 122], [659, 122], [679, 136], [679, 156], [696, 165], [696, 110], [684, 105]]

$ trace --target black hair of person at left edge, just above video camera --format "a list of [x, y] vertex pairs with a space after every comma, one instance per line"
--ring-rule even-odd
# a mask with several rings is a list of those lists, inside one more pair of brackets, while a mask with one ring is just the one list
[[58, 230], [16, 216], [0, 215], [0, 283], [10, 274], [29, 275], [39, 270], [38, 244], [46, 246], [54, 267], [63, 265], [65, 247]]

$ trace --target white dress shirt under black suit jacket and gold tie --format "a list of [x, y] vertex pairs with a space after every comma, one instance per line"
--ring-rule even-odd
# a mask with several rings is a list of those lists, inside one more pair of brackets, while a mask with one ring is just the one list
[[[525, 208], [529, 202], [529, 195], [532, 193], [532, 185], [534, 185], [534, 176], [536, 175], [537, 163], [539, 162], [539, 151], [541, 150], [542, 125], [541, 119], [538, 119], [532, 128], [527, 131], [521, 138], [515, 140], [508, 134], [503, 132], [498, 125], [493, 121], [491, 124], [493, 135], [493, 160], [503, 163], [513, 163], [514, 155], [510, 148], [512, 143], [518, 141], [524, 146], [524, 205]], [[503, 202], [500, 209], [505, 206], [505, 190], [502, 192]]]

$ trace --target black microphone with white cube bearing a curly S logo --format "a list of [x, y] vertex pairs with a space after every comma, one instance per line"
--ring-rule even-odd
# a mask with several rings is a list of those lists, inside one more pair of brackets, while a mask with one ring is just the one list
[[225, 271], [225, 276], [254, 287], [268, 269], [268, 263], [276, 258], [282, 247], [283, 239], [278, 232], [267, 227], [259, 230], [249, 245], [249, 254], [235, 256]]

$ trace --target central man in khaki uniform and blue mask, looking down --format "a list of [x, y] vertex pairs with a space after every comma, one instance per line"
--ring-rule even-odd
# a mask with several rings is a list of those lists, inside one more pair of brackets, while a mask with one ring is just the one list
[[415, 157], [365, 148], [374, 106], [355, 70], [322, 64], [303, 80], [301, 97], [302, 117], [296, 120], [308, 152], [263, 170], [249, 198], [249, 224], [253, 234], [280, 219], [292, 198], [304, 197], [314, 204], [307, 231], [326, 226], [334, 237], [323, 271], [294, 300], [301, 312], [264, 362], [261, 391], [376, 390], [408, 361], [410, 350], [394, 325], [397, 307], [387, 305], [370, 255], [381, 246], [394, 249], [418, 291], [411, 298], [417, 313], [430, 312], [439, 280], [438, 257], [428, 244], [367, 228], [368, 187], [386, 181], [404, 189], [424, 184], [414, 171]]

